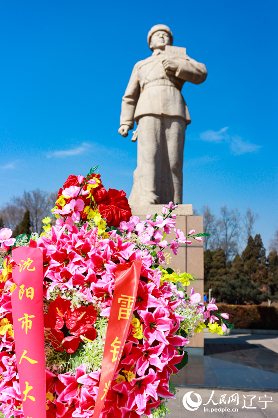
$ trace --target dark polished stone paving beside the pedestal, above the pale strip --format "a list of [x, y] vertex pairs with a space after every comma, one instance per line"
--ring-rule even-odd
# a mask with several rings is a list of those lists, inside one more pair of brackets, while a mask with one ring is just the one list
[[[204, 356], [189, 356], [178, 386], [278, 390], [278, 336], [205, 334]], [[278, 411], [277, 411], [278, 417]]]

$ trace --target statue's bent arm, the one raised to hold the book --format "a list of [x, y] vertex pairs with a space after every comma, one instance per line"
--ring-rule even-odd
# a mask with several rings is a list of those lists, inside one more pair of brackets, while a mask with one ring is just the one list
[[195, 61], [195, 59], [187, 56], [186, 58], [179, 58], [179, 66], [176, 71], [176, 77], [194, 84], [201, 84], [205, 81], [207, 71], [202, 62]]

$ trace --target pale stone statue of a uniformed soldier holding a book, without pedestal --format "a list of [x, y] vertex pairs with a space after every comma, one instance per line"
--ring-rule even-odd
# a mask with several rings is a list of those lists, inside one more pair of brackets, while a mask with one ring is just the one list
[[181, 89], [186, 81], [202, 83], [207, 75], [205, 65], [187, 56], [185, 48], [171, 46], [173, 34], [168, 26], [153, 26], [148, 44], [152, 56], [133, 68], [118, 131], [126, 137], [134, 120], [138, 125], [132, 138], [138, 137], [138, 146], [128, 199], [131, 207], [182, 203], [185, 129], [191, 119]]

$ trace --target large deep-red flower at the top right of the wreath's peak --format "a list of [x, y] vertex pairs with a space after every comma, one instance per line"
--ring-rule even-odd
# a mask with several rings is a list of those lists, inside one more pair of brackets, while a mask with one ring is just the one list
[[98, 209], [108, 226], [117, 227], [120, 222], [128, 221], [131, 217], [131, 209], [123, 190], [109, 189], [106, 199], [98, 204]]

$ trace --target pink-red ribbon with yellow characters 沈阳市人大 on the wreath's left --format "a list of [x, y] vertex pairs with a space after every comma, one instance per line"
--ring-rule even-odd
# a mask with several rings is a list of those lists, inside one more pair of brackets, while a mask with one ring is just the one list
[[46, 418], [42, 251], [18, 247], [13, 259], [13, 327], [24, 417]]

